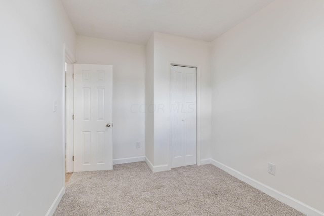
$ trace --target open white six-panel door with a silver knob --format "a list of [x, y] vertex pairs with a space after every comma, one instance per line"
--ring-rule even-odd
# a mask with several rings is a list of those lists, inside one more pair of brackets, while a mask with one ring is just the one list
[[112, 66], [74, 64], [74, 171], [112, 169]]

